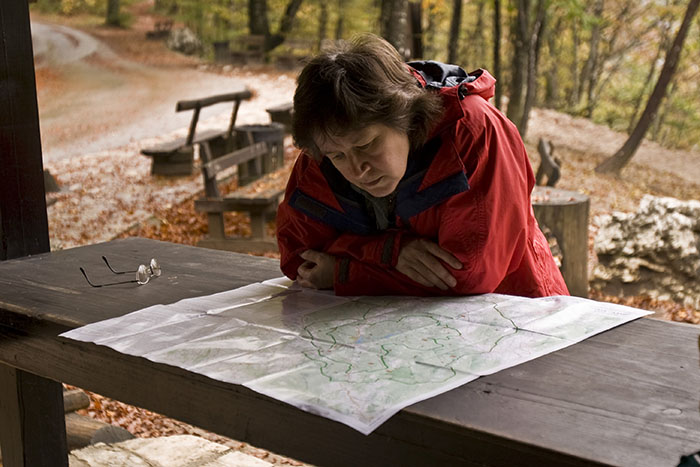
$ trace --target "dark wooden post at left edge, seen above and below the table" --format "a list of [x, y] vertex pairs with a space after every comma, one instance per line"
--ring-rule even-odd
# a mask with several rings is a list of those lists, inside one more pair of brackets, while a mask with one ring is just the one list
[[[27, 1], [0, 2], [0, 260], [49, 251]], [[67, 466], [61, 384], [0, 364], [5, 467]]]

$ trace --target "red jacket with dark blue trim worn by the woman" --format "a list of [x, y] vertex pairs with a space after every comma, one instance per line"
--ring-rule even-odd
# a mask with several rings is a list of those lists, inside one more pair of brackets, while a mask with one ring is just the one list
[[[426, 86], [425, 75], [412, 72]], [[295, 279], [299, 253], [313, 249], [337, 258], [338, 295], [568, 295], [534, 217], [522, 139], [487, 102], [496, 80], [485, 70], [472, 75], [436, 91], [445, 111], [428, 143], [409, 155], [397, 188], [397, 228], [376, 231], [361, 195], [330, 161], [299, 155], [277, 213], [284, 274]], [[402, 243], [415, 237], [436, 241], [462, 262], [459, 270], [445, 265], [454, 288], [425, 287], [394, 269]]]

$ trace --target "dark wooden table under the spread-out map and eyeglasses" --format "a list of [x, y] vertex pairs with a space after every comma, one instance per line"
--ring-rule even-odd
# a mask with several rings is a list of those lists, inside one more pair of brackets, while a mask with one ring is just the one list
[[[112, 279], [101, 255], [115, 268], [155, 257], [163, 275], [93, 289], [78, 267]], [[279, 275], [274, 260], [145, 239], [0, 262], [5, 466], [66, 465], [56, 381], [320, 465], [671, 466], [700, 450], [700, 329], [691, 325], [628, 323], [408, 407], [370, 436], [241, 386], [57, 337]]]

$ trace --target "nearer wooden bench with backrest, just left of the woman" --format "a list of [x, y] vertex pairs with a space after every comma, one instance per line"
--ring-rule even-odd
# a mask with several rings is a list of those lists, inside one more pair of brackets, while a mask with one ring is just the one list
[[[194, 207], [196, 211], [207, 214], [209, 236], [200, 240], [198, 246], [243, 253], [277, 251], [277, 242], [267, 235], [267, 222], [274, 218], [277, 212], [284, 187], [277, 183], [271, 188], [258, 191], [250, 185], [239, 186], [236, 191], [224, 196], [218, 186], [219, 175], [224, 174], [228, 169], [233, 166], [244, 166], [248, 161], [265, 160], [275, 150], [274, 143], [259, 141], [212, 159], [207, 147], [204, 146], [202, 176], [205, 197], [195, 200]], [[272, 179], [273, 174], [267, 174], [260, 179], [260, 184], [269, 186]], [[249, 214], [250, 237], [226, 236], [224, 213], [230, 211]]]

